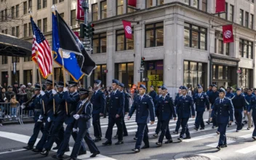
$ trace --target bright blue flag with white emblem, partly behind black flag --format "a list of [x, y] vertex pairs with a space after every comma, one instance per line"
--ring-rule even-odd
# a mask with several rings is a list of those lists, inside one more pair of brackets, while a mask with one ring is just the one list
[[[59, 36], [59, 29], [57, 25], [57, 17], [52, 13], [52, 52], [54, 55], [55, 62], [62, 66], [64, 61], [64, 68], [65, 71], [71, 75], [74, 81], [79, 81], [83, 78], [84, 73], [81, 72], [81, 67], [79, 66], [78, 59], [84, 59], [82, 55], [75, 54], [74, 52], [68, 52], [63, 50], [63, 61], [61, 57], [60, 50], [60, 36]], [[68, 39], [65, 39], [68, 41]]]

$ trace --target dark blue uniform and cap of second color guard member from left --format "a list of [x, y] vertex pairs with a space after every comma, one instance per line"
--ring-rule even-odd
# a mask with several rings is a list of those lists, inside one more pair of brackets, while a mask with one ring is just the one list
[[[46, 84], [51, 85], [52, 81], [47, 79]], [[44, 148], [44, 144], [47, 142], [47, 138], [50, 134], [50, 129], [52, 127], [52, 118], [53, 118], [53, 95], [52, 90], [45, 91], [45, 94], [41, 97], [44, 101], [44, 107], [45, 107], [45, 113], [44, 110], [41, 111], [41, 115], [44, 115], [45, 120], [45, 126], [44, 126], [44, 132], [39, 140], [39, 143], [36, 145], [37, 151], [42, 151]], [[48, 121], [48, 119], [51, 119], [51, 121]], [[48, 156], [48, 154], [45, 154], [45, 156]]]

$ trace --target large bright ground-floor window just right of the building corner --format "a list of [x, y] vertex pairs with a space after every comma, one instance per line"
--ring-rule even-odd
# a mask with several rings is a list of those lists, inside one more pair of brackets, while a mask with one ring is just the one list
[[204, 84], [207, 83], [207, 76], [204, 76], [204, 70], [207, 68], [206, 64], [184, 61], [183, 68], [185, 87], [196, 87], [197, 84], [201, 84], [203, 87], [206, 87], [204, 86]]

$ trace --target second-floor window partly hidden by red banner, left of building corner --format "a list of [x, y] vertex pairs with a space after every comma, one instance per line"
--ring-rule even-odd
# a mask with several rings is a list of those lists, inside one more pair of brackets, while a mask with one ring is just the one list
[[125, 37], [124, 30], [116, 31], [116, 51], [128, 50], [134, 48], [133, 40], [133, 28], [132, 28], [132, 39]]

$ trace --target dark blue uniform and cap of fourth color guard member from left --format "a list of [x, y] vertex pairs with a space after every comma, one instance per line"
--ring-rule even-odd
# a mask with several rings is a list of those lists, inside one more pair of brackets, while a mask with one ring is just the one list
[[[75, 81], [68, 81], [68, 86], [73, 87], [76, 86], [78, 83]], [[71, 138], [71, 135], [73, 137], [73, 140], [76, 140], [77, 133], [73, 132], [73, 127], [76, 123], [76, 119], [73, 118], [73, 115], [76, 114], [76, 106], [77, 103], [79, 103], [79, 93], [78, 92], [64, 92], [64, 99], [65, 102], [68, 103], [68, 113], [66, 113], [65, 116], [65, 124], [67, 124], [67, 127], [65, 128], [64, 132], [64, 140], [63, 143], [61, 143], [60, 148], [57, 150], [57, 156], [63, 157], [66, 149], [68, 148], [68, 143]], [[80, 153], [85, 153], [86, 149], [84, 146], [84, 143], [81, 144], [82, 148], [80, 150]]]

